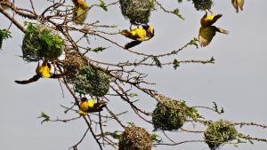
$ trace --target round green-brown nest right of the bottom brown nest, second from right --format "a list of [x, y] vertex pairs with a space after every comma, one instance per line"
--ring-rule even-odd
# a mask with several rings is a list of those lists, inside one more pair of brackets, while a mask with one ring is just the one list
[[186, 106], [180, 101], [159, 97], [157, 107], [152, 114], [154, 130], [178, 130], [186, 120]]

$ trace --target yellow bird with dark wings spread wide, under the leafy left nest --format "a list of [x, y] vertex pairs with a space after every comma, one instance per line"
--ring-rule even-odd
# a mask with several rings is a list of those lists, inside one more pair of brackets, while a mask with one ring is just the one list
[[63, 73], [60, 75], [56, 75], [51, 73], [51, 64], [48, 63], [46, 60], [44, 60], [43, 64], [40, 66], [39, 62], [38, 65], [36, 67], [36, 75], [34, 75], [32, 78], [28, 79], [28, 80], [23, 80], [23, 81], [18, 81], [16, 80], [15, 83], [20, 83], [20, 84], [28, 84], [28, 83], [33, 83], [36, 82], [37, 80], [39, 80], [40, 78], [44, 77], [44, 78], [61, 78], [64, 77], [65, 75], [68, 75], [67, 73]]

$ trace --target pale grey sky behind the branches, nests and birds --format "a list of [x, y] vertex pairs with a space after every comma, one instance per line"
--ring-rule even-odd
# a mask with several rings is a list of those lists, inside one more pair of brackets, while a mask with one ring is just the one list
[[[46, 1], [35, 1], [38, 12], [45, 8]], [[96, 0], [87, 2], [90, 4]], [[161, 1], [162, 2], [162, 1]], [[70, 1], [69, 1], [70, 3]], [[17, 4], [27, 8], [28, 1], [17, 1]], [[136, 47], [136, 51], [147, 53], [164, 53], [178, 49], [198, 36], [199, 20], [204, 12], [194, 10], [193, 4], [184, 0], [178, 4], [176, 0], [167, 0], [163, 3], [167, 8], [180, 9], [185, 20], [180, 20], [174, 15], [162, 11], [152, 12], [150, 24], [156, 30], [155, 36], [148, 42]], [[173, 67], [143, 67], [140, 70], [148, 73], [147, 80], [157, 82], [153, 86], [159, 93], [163, 93], [173, 99], [186, 100], [190, 106], [210, 106], [216, 101], [220, 107], [224, 107], [225, 114], [212, 114], [206, 110], [199, 110], [206, 118], [228, 119], [235, 122], [259, 122], [267, 124], [266, 100], [267, 100], [267, 1], [247, 0], [244, 11], [236, 13], [231, 5], [231, 0], [214, 0], [214, 13], [222, 13], [223, 17], [215, 23], [215, 26], [230, 31], [230, 35], [217, 34], [212, 43], [206, 48], [191, 46], [175, 56], [176, 59], [209, 59], [214, 57], [215, 64], [187, 64], [181, 65], [177, 70]], [[118, 28], [128, 28], [128, 21], [120, 14], [117, 6], [109, 8], [109, 12], [94, 8], [89, 13], [87, 22], [100, 20], [102, 24], [118, 25]], [[9, 21], [0, 14], [0, 28], [7, 28]], [[0, 149], [3, 150], [64, 150], [77, 143], [86, 130], [85, 122], [78, 120], [69, 123], [49, 122], [41, 125], [41, 120], [36, 117], [44, 111], [53, 118], [69, 118], [77, 116], [75, 113], [63, 114], [64, 109], [60, 105], [69, 106], [72, 101], [69, 93], [64, 92], [62, 98], [61, 87], [56, 80], [41, 79], [36, 83], [19, 85], [14, 83], [17, 79], [26, 79], [35, 74], [36, 63], [25, 63], [18, 57], [21, 55], [20, 45], [22, 33], [12, 26], [12, 37], [4, 41], [3, 50], [0, 51]], [[125, 37], [116, 36], [119, 43], [129, 41]], [[107, 51], [90, 57], [109, 62], [118, 62], [133, 58], [128, 52], [118, 49], [111, 43], [102, 42], [91, 38], [93, 46], [109, 45]], [[135, 56], [134, 56], [135, 57]], [[141, 107], [153, 110], [156, 103], [147, 96], [141, 94]], [[125, 111], [125, 102], [119, 99], [109, 102], [109, 107], [117, 113]], [[136, 120], [134, 114], [122, 117], [125, 122]], [[129, 118], [131, 118], [129, 120]], [[116, 124], [115, 122], [113, 122]], [[143, 125], [144, 122], [135, 122]], [[110, 123], [110, 129], [116, 129]], [[146, 124], [148, 131], [152, 126]], [[185, 127], [191, 127], [186, 124]], [[259, 138], [267, 138], [266, 130], [258, 130], [253, 127], [245, 127], [240, 131]], [[158, 133], [158, 132], [157, 132]], [[172, 133], [175, 141], [184, 139], [201, 139], [202, 135]], [[98, 149], [89, 133], [80, 146], [81, 149]], [[227, 150], [263, 150], [266, 143], [255, 142], [255, 145], [242, 144], [239, 147], [223, 146]], [[109, 149], [109, 148], [107, 148]], [[205, 143], [190, 143], [180, 146], [158, 146], [154, 149], [208, 149]]]

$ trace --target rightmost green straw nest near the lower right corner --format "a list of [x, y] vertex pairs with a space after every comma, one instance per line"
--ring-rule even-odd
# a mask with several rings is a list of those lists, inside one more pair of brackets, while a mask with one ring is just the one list
[[225, 142], [236, 139], [238, 131], [231, 122], [219, 120], [208, 124], [204, 136], [206, 144], [211, 150], [214, 150], [222, 146]]

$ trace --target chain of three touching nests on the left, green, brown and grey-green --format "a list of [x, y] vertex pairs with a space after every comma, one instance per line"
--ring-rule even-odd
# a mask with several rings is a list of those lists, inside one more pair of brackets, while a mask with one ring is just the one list
[[[47, 25], [27, 23], [21, 49], [27, 62], [59, 62], [61, 69], [69, 73], [65, 76], [67, 83], [79, 94], [102, 97], [109, 91], [109, 75], [88, 64], [77, 51], [67, 51], [61, 36]], [[66, 57], [60, 60], [62, 55]]]

